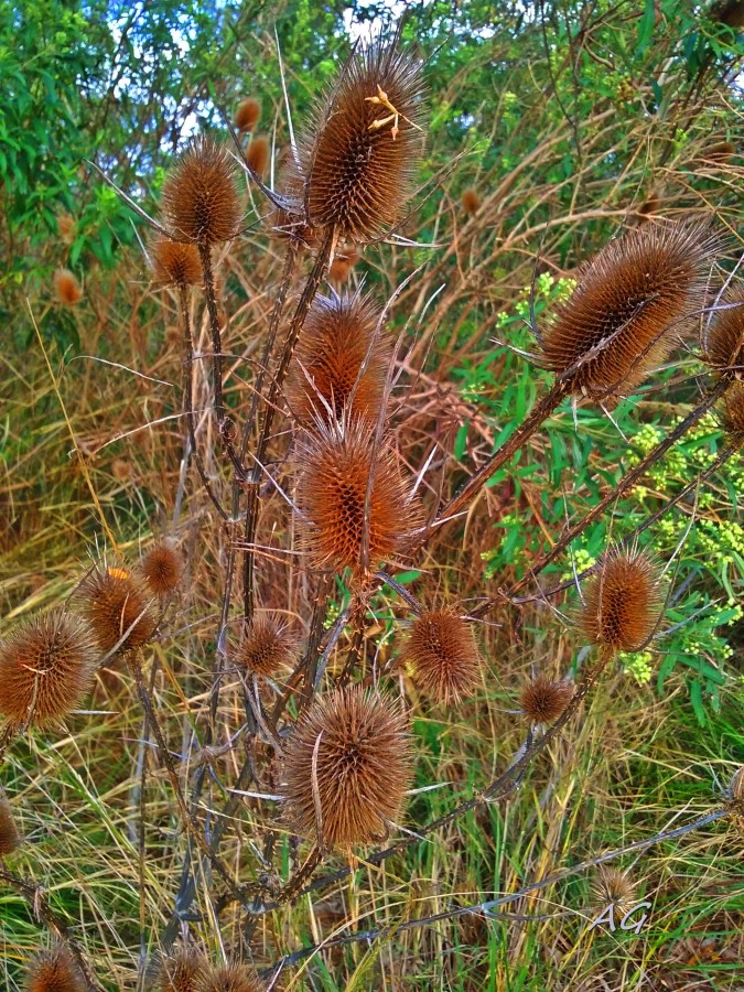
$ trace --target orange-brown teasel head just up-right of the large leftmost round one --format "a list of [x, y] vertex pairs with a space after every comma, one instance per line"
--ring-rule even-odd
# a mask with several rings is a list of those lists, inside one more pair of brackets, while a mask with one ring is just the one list
[[80, 583], [77, 595], [103, 654], [107, 655], [117, 645], [120, 654], [134, 651], [152, 640], [158, 625], [153, 596], [136, 572], [95, 565]]

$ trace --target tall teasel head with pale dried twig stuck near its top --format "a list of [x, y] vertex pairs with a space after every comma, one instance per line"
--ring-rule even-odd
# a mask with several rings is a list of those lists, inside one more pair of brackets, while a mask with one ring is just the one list
[[420, 66], [395, 44], [351, 56], [302, 149], [311, 226], [364, 244], [401, 219], [422, 150], [422, 97]]

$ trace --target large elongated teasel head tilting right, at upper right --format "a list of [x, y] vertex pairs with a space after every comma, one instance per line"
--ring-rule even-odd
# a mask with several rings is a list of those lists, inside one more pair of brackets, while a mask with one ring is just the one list
[[703, 306], [720, 244], [705, 223], [644, 225], [610, 241], [544, 330], [548, 368], [575, 395], [632, 392]]

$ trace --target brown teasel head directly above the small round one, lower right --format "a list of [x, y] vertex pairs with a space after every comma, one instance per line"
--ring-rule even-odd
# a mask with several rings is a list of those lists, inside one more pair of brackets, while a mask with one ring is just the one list
[[640, 552], [613, 550], [583, 590], [579, 626], [586, 639], [611, 655], [640, 650], [662, 607], [656, 563]]

